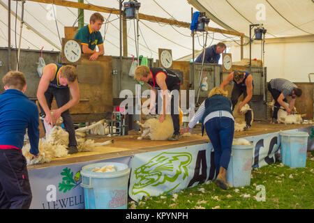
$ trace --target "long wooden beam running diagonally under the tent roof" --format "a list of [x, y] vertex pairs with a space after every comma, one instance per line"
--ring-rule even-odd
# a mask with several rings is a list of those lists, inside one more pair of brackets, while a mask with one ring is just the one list
[[[70, 7], [70, 8], [82, 8], [82, 9], [86, 9], [86, 10], [93, 10], [93, 11], [102, 12], [102, 13], [112, 13], [112, 14], [117, 14], [117, 15], [119, 15], [119, 13], [120, 13], [119, 9], [117, 9], [117, 8], [107, 8], [107, 7], [103, 7], [103, 6], [95, 6], [92, 4], [77, 3], [77, 2], [73, 2], [73, 1], [63, 1], [63, 0], [29, 0], [29, 1], [54, 4], [57, 6], [66, 6], [66, 7]], [[139, 13], [139, 18], [140, 18], [140, 20], [148, 20], [151, 22], [160, 22], [160, 23], [164, 23], [164, 24], [170, 24], [170, 25], [190, 28], [190, 23], [188, 23], [188, 22], [180, 22], [177, 20], [165, 19], [162, 17], [156, 17], [154, 15], [144, 15], [142, 13]], [[232, 36], [244, 36], [244, 33], [239, 33], [236, 31], [229, 31], [229, 30], [224, 30], [224, 29], [218, 29], [218, 28], [212, 28], [212, 27], [208, 27], [207, 30], [215, 32], [215, 33], [224, 33], [224, 34], [232, 35]]]

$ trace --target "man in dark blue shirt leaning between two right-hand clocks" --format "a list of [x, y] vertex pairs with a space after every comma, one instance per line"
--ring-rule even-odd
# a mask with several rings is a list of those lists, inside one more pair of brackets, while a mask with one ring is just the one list
[[[225, 51], [225, 43], [217, 43], [217, 45], [212, 45], [211, 47], [207, 47], [205, 49], [204, 63], [218, 63], [220, 59], [220, 54], [222, 54], [224, 51]], [[197, 59], [195, 59], [194, 62], [202, 63], [203, 54], [204, 52], [198, 55]]]

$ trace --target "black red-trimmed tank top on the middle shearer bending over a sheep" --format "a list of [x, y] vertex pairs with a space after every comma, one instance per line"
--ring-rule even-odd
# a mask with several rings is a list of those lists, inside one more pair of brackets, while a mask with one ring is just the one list
[[149, 68], [151, 70], [151, 74], [153, 75], [153, 81], [147, 82], [150, 86], [154, 87], [157, 90], [160, 90], [160, 86], [156, 83], [156, 76], [158, 73], [163, 72], [166, 75], [165, 83], [167, 85], [167, 89], [172, 91], [174, 86], [181, 84], [179, 77], [172, 72], [171, 70], [165, 68]]

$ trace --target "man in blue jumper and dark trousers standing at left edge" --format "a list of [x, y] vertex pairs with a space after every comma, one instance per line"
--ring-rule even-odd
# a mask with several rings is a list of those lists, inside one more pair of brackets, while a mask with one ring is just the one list
[[24, 95], [22, 72], [10, 71], [2, 81], [6, 91], [0, 95], [0, 209], [29, 208], [31, 186], [22, 147], [28, 129], [29, 152], [38, 157], [38, 108]]

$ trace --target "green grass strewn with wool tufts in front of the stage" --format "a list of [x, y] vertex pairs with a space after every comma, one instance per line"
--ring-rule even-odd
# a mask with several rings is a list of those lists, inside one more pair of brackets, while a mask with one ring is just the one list
[[[251, 185], [220, 190], [213, 182], [187, 188], [175, 194], [144, 197], [138, 203], [128, 203], [136, 209], [313, 209], [314, 208], [314, 151], [307, 155], [306, 167], [292, 169], [280, 162], [255, 168]], [[264, 185], [265, 201], [257, 201]], [[250, 197], [248, 197], [248, 194]]]

